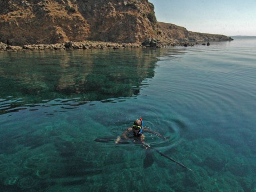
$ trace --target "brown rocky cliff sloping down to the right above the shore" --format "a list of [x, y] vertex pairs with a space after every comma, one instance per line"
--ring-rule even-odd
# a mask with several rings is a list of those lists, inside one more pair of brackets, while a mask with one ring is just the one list
[[[0, 41], [9, 45], [84, 40], [138, 43], [146, 38], [164, 42], [205, 37], [157, 22], [154, 5], [147, 0], [0, 1]], [[214, 39], [228, 37], [216, 35]]]

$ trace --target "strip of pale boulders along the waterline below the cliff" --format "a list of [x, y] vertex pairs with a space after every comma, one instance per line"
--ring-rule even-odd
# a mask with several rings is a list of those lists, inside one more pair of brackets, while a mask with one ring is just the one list
[[[56, 43], [51, 45], [38, 44], [38, 45], [23, 45], [23, 46], [12, 46], [6, 43], [0, 42], [0, 52], [16, 52], [16, 51], [43, 51], [43, 50], [88, 50], [88, 49], [120, 49], [120, 48], [136, 48], [136, 47], [168, 47], [168, 46], [195, 46], [198, 42], [179, 42], [170, 40], [167, 42], [161, 42], [155, 38], [147, 38], [142, 43], [112, 43], [112, 42], [98, 42], [98, 41], [83, 41], [83, 42], [66, 42]], [[202, 43], [202, 45], [210, 45], [208, 42]]]

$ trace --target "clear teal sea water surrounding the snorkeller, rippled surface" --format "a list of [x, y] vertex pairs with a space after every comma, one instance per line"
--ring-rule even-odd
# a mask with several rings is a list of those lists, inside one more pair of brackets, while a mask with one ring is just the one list
[[0, 191], [255, 192], [255, 101], [253, 39], [2, 52]]

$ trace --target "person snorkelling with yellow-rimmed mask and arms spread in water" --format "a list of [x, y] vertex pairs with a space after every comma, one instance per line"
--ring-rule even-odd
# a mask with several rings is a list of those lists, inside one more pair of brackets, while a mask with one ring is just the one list
[[140, 118], [134, 121], [134, 125], [132, 125], [132, 127], [127, 128], [121, 136], [117, 137], [116, 144], [119, 144], [121, 140], [129, 140], [129, 139], [134, 139], [134, 141], [140, 140], [142, 143], [144, 143], [144, 138], [145, 138], [143, 134], [144, 132], [155, 134], [164, 140], [168, 139], [167, 137], [164, 137], [158, 132], [152, 131], [149, 128], [144, 127], [143, 121]]

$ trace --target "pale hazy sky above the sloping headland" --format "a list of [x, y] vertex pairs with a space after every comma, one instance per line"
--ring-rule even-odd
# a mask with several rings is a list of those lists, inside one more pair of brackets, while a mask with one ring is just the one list
[[256, 36], [256, 0], [149, 0], [157, 21], [189, 31]]

